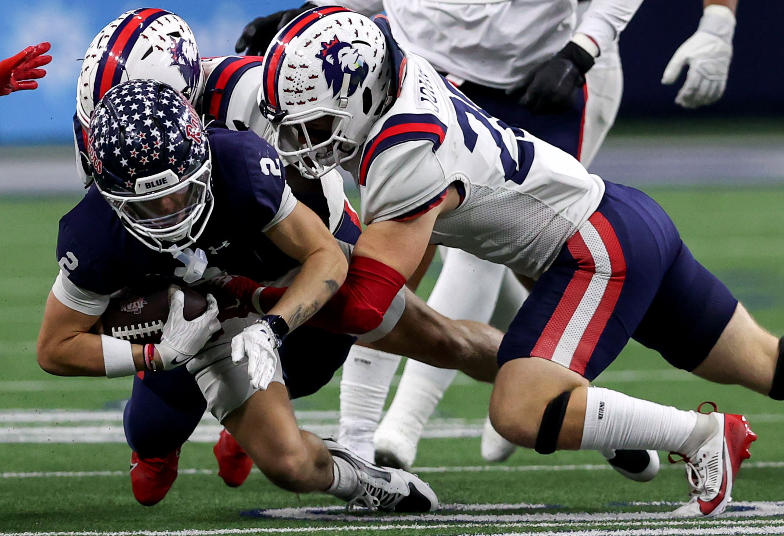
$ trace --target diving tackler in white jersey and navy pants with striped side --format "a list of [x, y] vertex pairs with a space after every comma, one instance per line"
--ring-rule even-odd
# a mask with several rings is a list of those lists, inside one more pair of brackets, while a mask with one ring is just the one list
[[[348, 53], [356, 59], [334, 61]], [[745, 418], [590, 386], [633, 337], [702, 378], [784, 399], [781, 343], [655, 201], [493, 118], [398, 46], [383, 17], [306, 11], [281, 29], [264, 68], [261, 105], [281, 155], [311, 176], [342, 165], [359, 187], [368, 226], [352, 262], [370, 259], [376, 277], [342, 297], [347, 310], [361, 299], [383, 309], [430, 242], [510, 267], [535, 283], [499, 349], [495, 429], [542, 454], [680, 454], [692, 492], [675, 515], [724, 511], [756, 439]], [[289, 99], [306, 80], [312, 89]], [[350, 280], [343, 288], [361, 288]]]

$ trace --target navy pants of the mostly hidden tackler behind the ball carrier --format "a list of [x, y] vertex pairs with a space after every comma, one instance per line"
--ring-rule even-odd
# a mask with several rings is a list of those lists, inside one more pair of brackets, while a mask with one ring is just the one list
[[[343, 365], [351, 335], [302, 326], [278, 350], [292, 398], [307, 397], [325, 386]], [[143, 458], [162, 458], [194, 432], [207, 402], [185, 367], [140, 373], [125, 405], [123, 426], [129, 447]]]

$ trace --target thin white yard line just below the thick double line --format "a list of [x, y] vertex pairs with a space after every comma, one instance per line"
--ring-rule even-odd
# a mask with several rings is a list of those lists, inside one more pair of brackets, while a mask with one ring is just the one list
[[[784, 462], [744, 462], [743, 469], [782, 469]], [[538, 473], [560, 471], [605, 471], [612, 469], [608, 464], [601, 465], [464, 465], [454, 467], [414, 467], [413, 473]], [[680, 469], [683, 465], [662, 465], [661, 469]], [[252, 473], [260, 473], [255, 467]], [[214, 469], [180, 469], [180, 475], [215, 475]], [[127, 476], [128, 471], [6, 471], [0, 473], [0, 478], [89, 478], [93, 476]], [[630, 506], [657, 506], [665, 505], [663, 502], [628, 503]], [[674, 504], [674, 503], [673, 503]]]

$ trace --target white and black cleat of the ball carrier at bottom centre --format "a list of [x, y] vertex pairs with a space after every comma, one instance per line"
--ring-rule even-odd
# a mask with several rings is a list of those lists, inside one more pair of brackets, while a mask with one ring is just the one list
[[333, 440], [324, 440], [329, 454], [343, 458], [357, 469], [361, 486], [346, 505], [351, 511], [365, 506], [383, 512], [433, 512], [438, 498], [430, 484], [402, 469], [380, 467], [365, 462], [354, 452]]

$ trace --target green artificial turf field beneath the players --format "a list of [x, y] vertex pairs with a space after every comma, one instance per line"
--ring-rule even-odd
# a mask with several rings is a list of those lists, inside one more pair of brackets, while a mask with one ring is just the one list
[[[697, 259], [728, 284], [765, 328], [777, 335], [784, 334], [781, 209], [784, 188], [690, 187], [647, 191], [670, 212]], [[56, 378], [40, 370], [35, 362], [34, 341], [46, 295], [57, 272], [54, 254], [57, 220], [76, 201], [75, 198], [0, 198], [0, 410], [116, 408], [129, 396], [128, 379]], [[437, 266], [423, 282], [424, 293], [432, 288], [434, 273]], [[459, 378], [446, 393], [436, 416], [484, 418], [489, 386]], [[784, 462], [784, 407], [780, 403], [739, 387], [717, 386], [674, 371], [661, 357], [637, 343], [627, 347], [608, 369], [606, 379], [600, 377], [597, 384], [682, 408], [713, 400], [722, 411], [742, 412], [749, 416], [760, 436], [753, 444], [750, 462]], [[296, 409], [337, 410], [338, 395], [337, 381], [333, 380], [314, 396], [297, 400]], [[0, 422], [0, 427], [5, 426]], [[646, 531], [659, 527], [664, 531], [662, 534], [669, 534], [667, 530], [675, 527], [669, 521], [582, 522], [571, 518], [547, 521], [521, 516], [535, 512], [564, 515], [658, 512], [673, 506], [627, 503], [678, 502], [686, 500], [688, 494], [681, 469], [671, 469], [663, 458], [659, 476], [650, 483], [632, 482], [611, 469], [598, 469], [596, 466], [604, 467], [604, 461], [593, 452], [559, 452], [543, 457], [518, 449], [504, 465], [512, 468], [554, 465], [562, 470], [528, 467], [457, 472], [455, 468], [486, 465], [479, 455], [479, 439], [427, 439], [419, 445], [416, 465], [431, 468], [420, 476], [430, 482], [442, 503], [479, 503], [499, 505], [498, 508], [447, 510], [437, 513], [453, 519], [419, 523], [411, 516], [397, 517], [398, 521], [388, 518], [374, 521], [379, 515], [362, 516], [350, 522], [270, 520], [241, 516], [240, 512], [339, 505], [339, 502], [326, 495], [297, 496], [280, 491], [260, 473], [252, 473], [242, 487], [231, 489], [216, 476], [211, 445], [188, 443], [183, 447], [180, 469], [209, 471], [181, 474], [163, 502], [145, 508], [132, 497], [128, 476], [114, 473], [128, 468], [129, 455], [129, 448], [124, 444], [0, 444], [0, 473], [4, 473], [0, 478], [0, 533], [199, 529], [207, 531], [205, 534], [218, 534], [215, 531], [223, 529], [249, 532], [275, 529], [280, 534], [296, 534], [321, 527], [326, 534], [346, 531], [429, 536], [588, 529]], [[591, 465], [592, 469], [564, 468], [583, 464]], [[433, 468], [442, 472], [433, 472]], [[17, 474], [99, 471], [109, 474]], [[748, 465], [742, 469], [733, 497], [741, 501], [784, 500], [784, 468]], [[550, 505], [550, 508], [528, 508], [517, 503]], [[733, 523], [731, 516], [728, 523]], [[767, 525], [767, 531], [771, 531], [770, 527], [780, 527], [775, 519], [750, 523], [746, 534], [749, 527], [758, 526], [754, 523], [760, 527]], [[697, 531], [687, 531], [688, 534], [703, 534], [699, 531], [720, 526], [702, 521], [680, 527]]]

